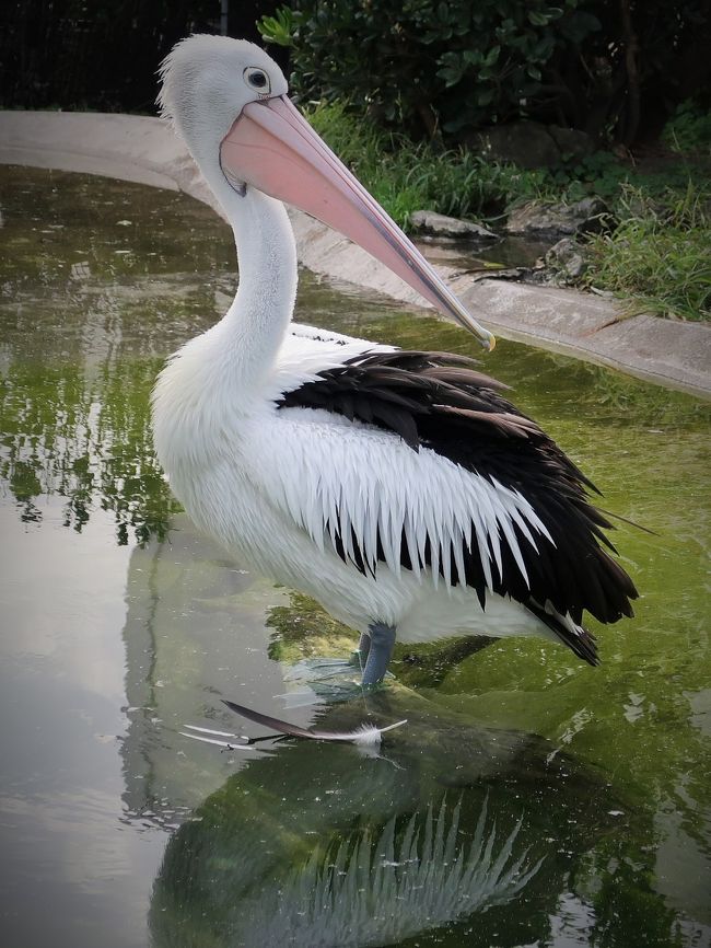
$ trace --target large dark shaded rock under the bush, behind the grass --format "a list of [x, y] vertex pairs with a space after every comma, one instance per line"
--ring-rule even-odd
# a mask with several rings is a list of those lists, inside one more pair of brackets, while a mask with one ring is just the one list
[[520, 167], [557, 167], [595, 150], [584, 131], [539, 122], [492, 125], [469, 136], [465, 144], [482, 158], [512, 161]]

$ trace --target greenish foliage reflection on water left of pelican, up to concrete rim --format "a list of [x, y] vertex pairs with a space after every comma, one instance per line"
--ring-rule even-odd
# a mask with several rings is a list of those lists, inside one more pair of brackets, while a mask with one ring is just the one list
[[162, 537], [177, 505], [149, 393], [163, 357], [214, 319], [232, 254], [222, 224], [125, 182], [10, 167], [0, 185], [0, 477], [23, 520], [58, 495], [77, 531], [101, 508], [119, 544]]

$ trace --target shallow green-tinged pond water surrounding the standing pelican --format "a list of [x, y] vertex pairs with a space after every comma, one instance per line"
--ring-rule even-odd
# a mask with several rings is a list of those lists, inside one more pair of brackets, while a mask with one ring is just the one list
[[[380, 756], [267, 741], [289, 662], [352, 637], [199, 536], [151, 453], [162, 360], [224, 311], [226, 229], [180, 195], [0, 169], [0, 943], [711, 945], [708, 405], [501, 342], [492, 374], [605, 492], [642, 598], [604, 663], [400, 648]], [[304, 275], [300, 317], [475, 351]]]

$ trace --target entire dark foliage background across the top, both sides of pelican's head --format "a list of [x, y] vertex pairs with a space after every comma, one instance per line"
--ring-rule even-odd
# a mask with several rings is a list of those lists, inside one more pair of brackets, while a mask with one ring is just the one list
[[[415, 137], [528, 116], [630, 144], [709, 95], [709, 0], [292, 0], [282, 20], [279, 0], [229, 7], [232, 36], [258, 42], [270, 18], [263, 35], [290, 45], [304, 94]], [[219, 0], [0, 4], [0, 105], [152, 112], [173, 44], [219, 30]]]

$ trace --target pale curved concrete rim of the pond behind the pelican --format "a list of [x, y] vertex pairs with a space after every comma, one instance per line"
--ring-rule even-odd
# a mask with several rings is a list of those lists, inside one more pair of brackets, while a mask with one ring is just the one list
[[[0, 163], [86, 172], [212, 195], [179, 140], [158, 118], [96, 113], [0, 112]], [[421, 298], [360, 247], [300, 211], [292, 212], [299, 256], [314, 273], [422, 305]], [[639, 315], [621, 319], [609, 300], [573, 290], [475, 279], [439, 271], [498, 335], [611, 366], [711, 397], [711, 326]]]

